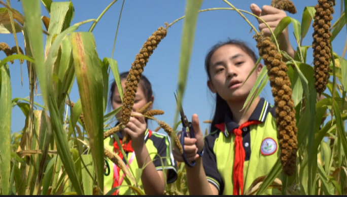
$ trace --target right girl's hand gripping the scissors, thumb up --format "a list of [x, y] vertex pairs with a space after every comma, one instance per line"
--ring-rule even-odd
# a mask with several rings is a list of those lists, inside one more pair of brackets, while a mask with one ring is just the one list
[[[188, 162], [195, 161], [199, 157], [199, 155], [197, 154], [197, 151], [199, 150], [199, 152], [201, 152], [204, 146], [203, 134], [200, 129], [198, 116], [196, 114], [192, 116], [192, 124], [193, 124], [193, 129], [194, 129], [194, 134], [196, 139], [186, 137], [184, 139], [184, 147], [183, 147], [185, 150]], [[179, 134], [179, 138], [181, 138], [181, 134]], [[184, 162], [181, 152], [176, 147], [173, 147], [172, 154], [175, 160], [177, 160], [178, 162]]]

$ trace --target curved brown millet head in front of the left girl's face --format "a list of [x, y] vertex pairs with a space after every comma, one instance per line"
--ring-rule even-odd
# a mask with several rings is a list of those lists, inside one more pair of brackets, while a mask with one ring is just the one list
[[[153, 51], [157, 48], [160, 41], [166, 36], [167, 28], [159, 27], [145, 42], [140, 53], [136, 55], [135, 61], [131, 64], [129, 74], [125, 82], [125, 93], [123, 96], [122, 105], [122, 120], [123, 124], [126, 125], [130, 120], [132, 107], [134, 104], [134, 98], [137, 91], [138, 83], [144, 71], [150, 56]], [[127, 143], [130, 141], [130, 136], [125, 135], [123, 142]]]

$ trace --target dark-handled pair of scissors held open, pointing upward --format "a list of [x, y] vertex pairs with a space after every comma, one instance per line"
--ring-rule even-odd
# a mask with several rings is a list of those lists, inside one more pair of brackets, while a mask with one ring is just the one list
[[[173, 93], [173, 94], [175, 94], [175, 93]], [[175, 98], [176, 98], [176, 102], [178, 102], [176, 94], [175, 94]], [[180, 142], [181, 142], [181, 145], [184, 147], [184, 138], [185, 138], [185, 137], [188, 137], [186, 128], [187, 128], [187, 127], [189, 128], [189, 137], [190, 137], [190, 138], [195, 138], [195, 134], [194, 134], [194, 129], [193, 129], [192, 123], [188, 121], [187, 116], [185, 115], [185, 113], [184, 113], [184, 111], [183, 111], [182, 104], [181, 104], [181, 106], [180, 106], [180, 113], [181, 113], [181, 121], [182, 121], [182, 126], [183, 126], [182, 132], [181, 132], [181, 139], [180, 139]], [[196, 144], [196, 143], [195, 143], [195, 145], [196, 145], [196, 147], [197, 147], [197, 144]], [[201, 153], [198, 151], [197, 154], [198, 154], [199, 156], [202, 156], [203, 150], [202, 150]], [[195, 166], [195, 161], [193, 161], [192, 163], [189, 163], [189, 162], [188, 162], [187, 157], [186, 157], [186, 152], [184, 151], [184, 148], [183, 148], [182, 157], [183, 157], [184, 163], [185, 163], [187, 166], [189, 166], [189, 167], [194, 167], [194, 166]]]

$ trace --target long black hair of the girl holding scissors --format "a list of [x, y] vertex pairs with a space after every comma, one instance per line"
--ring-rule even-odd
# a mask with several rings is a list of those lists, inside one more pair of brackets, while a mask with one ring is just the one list
[[[243, 41], [238, 41], [238, 40], [231, 40], [230, 38], [226, 42], [219, 42], [216, 45], [214, 45], [209, 53], [207, 53], [206, 58], [205, 58], [205, 70], [207, 75], [209, 76], [209, 81], [211, 81], [211, 73], [210, 73], [210, 63], [211, 63], [211, 58], [213, 54], [221, 47], [225, 45], [233, 45], [244, 52], [246, 52], [254, 61], [254, 63], [257, 62], [258, 56], [255, 54], [255, 52], [249, 47], [249, 45]], [[225, 119], [225, 114], [230, 112], [230, 107], [228, 103], [218, 94], [216, 93], [216, 110], [215, 114], [213, 116], [212, 124], [211, 124], [211, 130], [210, 132], [214, 132], [217, 130], [216, 124], [221, 124], [224, 123]]]

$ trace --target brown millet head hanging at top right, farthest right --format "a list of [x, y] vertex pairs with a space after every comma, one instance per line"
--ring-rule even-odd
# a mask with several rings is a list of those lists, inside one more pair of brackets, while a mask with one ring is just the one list
[[327, 88], [330, 71], [331, 45], [330, 45], [330, 27], [332, 14], [334, 13], [334, 0], [318, 0], [315, 6], [316, 13], [314, 17], [314, 41], [312, 48], [314, 50], [314, 70], [316, 79], [316, 91], [322, 94]]

